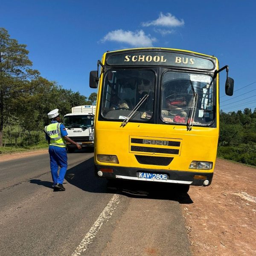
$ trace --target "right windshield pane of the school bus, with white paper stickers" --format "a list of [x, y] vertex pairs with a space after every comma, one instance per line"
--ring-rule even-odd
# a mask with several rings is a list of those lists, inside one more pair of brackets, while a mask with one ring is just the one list
[[[193, 89], [198, 95], [197, 102]], [[194, 125], [209, 125], [215, 118], [213, 96], [211, 76], [166, 72], [162, 83], [161, 118], [166, 123], [187, 123], [192, 118]]]

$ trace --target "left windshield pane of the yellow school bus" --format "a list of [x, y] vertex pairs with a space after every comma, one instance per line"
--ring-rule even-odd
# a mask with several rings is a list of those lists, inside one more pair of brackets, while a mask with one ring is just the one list
[[153, 114], [155, 75], [150, 70], [115, 70], [105, 76], [102, 116], [107, 119], [125, 119], [145, 94], [132, 120], [145, 121]]

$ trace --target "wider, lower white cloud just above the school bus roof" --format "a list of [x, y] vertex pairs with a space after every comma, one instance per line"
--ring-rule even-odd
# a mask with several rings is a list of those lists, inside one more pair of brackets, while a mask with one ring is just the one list
[[151, 37], [151, 35], [145, 35], [143, 30], [132, 32], [129, 30], [124, 31], [122, 29], [116, 29], [114, 31], [108, 32], [108, 34], [105, 35], [101, 41], [126, 43], [133, 47], [152, 47], [153, 42], [157, 40], [156, 38]]

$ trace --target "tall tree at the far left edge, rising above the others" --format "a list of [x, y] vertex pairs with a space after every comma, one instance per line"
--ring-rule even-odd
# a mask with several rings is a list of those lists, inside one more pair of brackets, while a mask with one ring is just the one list
[[29, 51], [25, 44], [11, 39], [7, 30], [0, 28], [0, 146], [3, 145], [3, 125], [10, 99], [31, 90], [28, 79], [39, 75], [32, 70], [32, 62], [28, 58]]

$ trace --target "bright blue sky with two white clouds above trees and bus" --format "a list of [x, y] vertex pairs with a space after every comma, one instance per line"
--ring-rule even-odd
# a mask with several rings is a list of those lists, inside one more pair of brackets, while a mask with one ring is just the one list
[[89, 88], [89, 73], [107, 50], [167, 47], [215, 55], [221, 67], [229, 65], [238, 91], [233, 98], [224, 96], [223, 71], [220, 102], [225, 112], [256, 107], [253, 0], [1, 2], [0, 27], [27, 44], [41, 76], [66, 89], [85, 96], [97, 92]]

